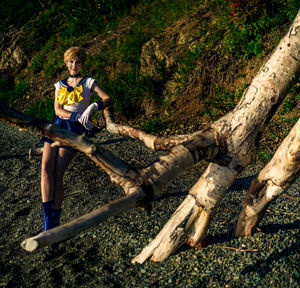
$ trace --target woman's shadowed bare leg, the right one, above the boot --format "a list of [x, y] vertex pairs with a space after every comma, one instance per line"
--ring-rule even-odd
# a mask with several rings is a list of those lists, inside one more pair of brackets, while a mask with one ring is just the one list
[[53, 208], [60, 209], [64, 196], [63, 177], [67, 170], [74, 152], [65, 148], [59, 148], [56, 156], [56, 167], [54, 172], [54, 195], [53, 195]]

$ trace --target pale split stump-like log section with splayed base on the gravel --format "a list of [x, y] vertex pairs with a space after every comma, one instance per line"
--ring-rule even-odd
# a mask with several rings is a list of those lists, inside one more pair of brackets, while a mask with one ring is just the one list
[[163, 261], [183, 243], [202, 246], [210, 219], [236, 175], [234, 170], [210, 164], [161, 233], [132, 262], [143, 263], [150, 257]]

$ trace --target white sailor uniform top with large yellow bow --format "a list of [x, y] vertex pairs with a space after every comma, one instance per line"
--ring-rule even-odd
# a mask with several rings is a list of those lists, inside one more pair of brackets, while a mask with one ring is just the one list
[[69, 86], [67, 79], [58, 81], [54, 84], [56, 92], [58, 91], [56, 101], [63, 105], [63, 109], [82, 114], [89, 106], [91, 95], [94, 94], [91, 88], [95, 81], [94, 78], [86, 76], [75, 87]]

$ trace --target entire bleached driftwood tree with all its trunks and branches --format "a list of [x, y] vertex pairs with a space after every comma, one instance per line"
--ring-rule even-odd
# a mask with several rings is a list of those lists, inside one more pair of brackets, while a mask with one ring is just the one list
[[[255, 147], [262, 128], [271, 119], [290, 88], [299, 81], [299, 75], [300, 11], [288, 33], [261, 67], [235, 109], [204, 129], [187, 135], [157, 137], [115, 123], [111, 112], [105, 109], [106, 128], [109, 132], [137, 138], [151, 149], [168, 151], [154, 164], [139, 169], [118, 159], [85, 137], [1, 105], [0, 119], [85, 153], [127, 194], [124, 198], [100, 207], [71, 223], [26, 239], [22, 247], [32, 251], [44, 245], [52, 245], [111, 215], [157, 200], [163, 188], [183, 170], [206, 160], [210, 164], [191, 188], [189, 195], [157, 237], [132, 262], [143, 263], [150, 257], [153, 261], [162, 261], [183, 243], [201, 247], [205, 243], [209, 223], [225, 193], [255, 156]], [[298, 176], [299, 133], [300, 120], [270, 163], [252, 181], [236, 225], [236, 236], [249, 235], [268, 204], [283, 193]]]

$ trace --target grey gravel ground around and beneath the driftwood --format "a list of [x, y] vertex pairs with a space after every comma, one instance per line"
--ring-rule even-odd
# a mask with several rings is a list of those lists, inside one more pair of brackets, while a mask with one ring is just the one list
[[[39, 136], [0, 122], [0, 287], [300, 287], [300, 181], [270, 205], [259, 230], [231, 238], [248, 185], [261, 166], [249, 166], [224, 198], [208, 231], [207, 247], [181, 247], [162, 263], [131, 264], [155, 238], [205, 169], [200, 163], [174, 180], [170, 197], [150, 212], [133, 209], [85, 230], [56, 248], [24, 251], [20, 243], [41, 232]], [[135, 166], [158, 157], [139, 141], [111, 135], [94, 138]], [[65, 174], [62, 223], [111, 200], [122, 190], [89, 158], [77, 153]], [[76, 192], [74, 194], [74, 192]], [[71, 194], [72, 195], [68, 195]], [[247, 248], [241, 252], [235, 248]]]

